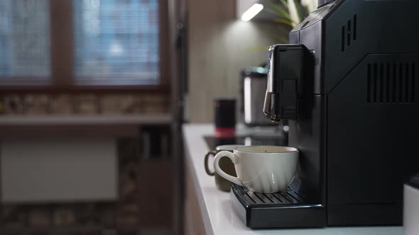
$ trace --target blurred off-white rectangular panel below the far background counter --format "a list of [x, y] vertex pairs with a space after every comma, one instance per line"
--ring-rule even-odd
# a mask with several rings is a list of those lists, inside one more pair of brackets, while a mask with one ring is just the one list
[[116, 200], [115, 139], [1, 140], [1, 202]]

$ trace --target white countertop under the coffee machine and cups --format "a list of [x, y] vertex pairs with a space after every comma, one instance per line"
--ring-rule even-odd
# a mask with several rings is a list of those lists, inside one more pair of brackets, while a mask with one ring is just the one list
[[[249, 132], [238, 128], [238, 134]], [[209, 150], [204, 136], [214, 134], [213, 125], [183, 125], [187, 166], [191, 169], [207, 234], [277, 235], [402, 235], [403, 227], [327, 227], [320, 229], [258, 229], [246, 227], [235, 214], [229, 193], [217, 190], [214, 178], [205, 173], [204, 156]]]

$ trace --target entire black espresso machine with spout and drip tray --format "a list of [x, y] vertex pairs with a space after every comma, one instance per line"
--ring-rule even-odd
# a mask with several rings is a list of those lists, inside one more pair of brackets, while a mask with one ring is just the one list
[[323, 0], [292, 44], [270, 47], [263, 111], [288, 122], [300, 159], [285, 192], [232, 186], [247, 227], [402, 223], [403, 183], [419, 172], [418, 9], [417, 0]]

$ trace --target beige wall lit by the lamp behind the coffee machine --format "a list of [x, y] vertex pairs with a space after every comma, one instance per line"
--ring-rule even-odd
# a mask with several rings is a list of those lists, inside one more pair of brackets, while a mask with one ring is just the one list
[[236, 97], [239, 101], [241, 69], [265, 62], [267, 52], [260, 47], [278, 43], [268, 37], [276, 33], [276, 25], [236, 19], [234, 1], [192, 0], [187, 8], [190, 80], [186, 115], [190, 122], [212, 122], [214, 98]]

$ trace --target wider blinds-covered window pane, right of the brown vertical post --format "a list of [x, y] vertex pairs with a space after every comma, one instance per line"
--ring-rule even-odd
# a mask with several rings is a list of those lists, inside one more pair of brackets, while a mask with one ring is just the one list
[[158, 1], [73, 0], [77, 82], [159, 81]]

